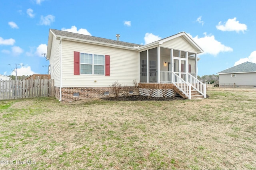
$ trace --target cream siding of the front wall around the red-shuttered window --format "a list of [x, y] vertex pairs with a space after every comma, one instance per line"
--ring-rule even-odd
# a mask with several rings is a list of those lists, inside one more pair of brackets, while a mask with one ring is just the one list
[[[110, 55], [110, 76], [74, 75], [74, 51]], [[122, 86], [133, 86], [132, 80], [139, 81], [138, 63], [137, 51], [62, 40], [62, 87], [109, 87], [115, 81]]]

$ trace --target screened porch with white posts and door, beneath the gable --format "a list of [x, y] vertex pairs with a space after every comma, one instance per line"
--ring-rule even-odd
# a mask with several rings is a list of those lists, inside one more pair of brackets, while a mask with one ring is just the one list
[[[158, 57], [159, 56], [159, 57]], [[140, 82], [172, 83], [174, 74], [188, 80], [197, 77], [197, 55], [187, 51], [155, 47], [140, 52]]]

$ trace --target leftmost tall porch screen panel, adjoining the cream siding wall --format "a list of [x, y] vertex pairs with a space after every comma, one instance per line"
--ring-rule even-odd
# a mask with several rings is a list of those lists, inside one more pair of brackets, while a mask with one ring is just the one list
[[140, 52], [140, 82], [148, 82], [147, 51]]

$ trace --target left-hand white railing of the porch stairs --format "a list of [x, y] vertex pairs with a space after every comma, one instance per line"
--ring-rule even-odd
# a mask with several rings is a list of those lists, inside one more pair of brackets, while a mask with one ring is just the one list
[[191, 99], [191, 84], [184, 81], [180, 76], [176, 73], [173, 73], [173, 84], [185, 94], [188, 99]]

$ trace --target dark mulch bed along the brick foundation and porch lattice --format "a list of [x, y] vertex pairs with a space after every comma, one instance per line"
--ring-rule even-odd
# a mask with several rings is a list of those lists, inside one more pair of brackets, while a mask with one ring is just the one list
[[170, 101], [170, 100], [186, 100], [182, 97], [166, 97], [166, 98], [154, 98], [150, 96], [122, 96], [122, 97], [110, 97], [110, 98], [101, 98], [103, 100], [115, 100], [115, 101]]

